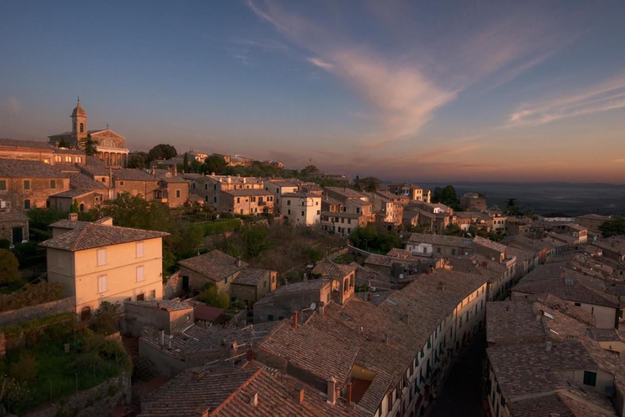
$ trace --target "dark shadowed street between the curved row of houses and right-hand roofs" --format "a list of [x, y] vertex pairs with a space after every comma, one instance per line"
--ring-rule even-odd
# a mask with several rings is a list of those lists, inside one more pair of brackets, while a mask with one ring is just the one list
[[436, 391], [437, 397], [426, 410], [427, 417], [483, 417], [482, 359], [486, 333], [480, 333], [449, 365]]

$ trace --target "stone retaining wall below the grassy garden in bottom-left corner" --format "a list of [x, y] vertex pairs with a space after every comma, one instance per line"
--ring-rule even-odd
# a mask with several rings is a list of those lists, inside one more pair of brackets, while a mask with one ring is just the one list
[[130, 404], [132, 396], [130, 374], [115, 378], [69, 397], [24, 414], [25, 417], [76, 416], [106, 417], [116, 407]]

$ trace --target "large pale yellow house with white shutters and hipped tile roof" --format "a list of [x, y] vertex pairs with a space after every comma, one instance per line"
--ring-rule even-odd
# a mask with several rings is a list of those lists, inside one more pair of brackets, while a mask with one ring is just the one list
[[103, 301], [163, 298], [163, 237], [169, 233], [75, 222], [76, 228], [41, 243], [47, 279], [76, 297], [76, 313], [91, 316]]

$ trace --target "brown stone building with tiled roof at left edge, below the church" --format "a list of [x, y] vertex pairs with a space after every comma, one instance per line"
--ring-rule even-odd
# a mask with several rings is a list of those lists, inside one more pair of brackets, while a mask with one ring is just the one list
[[49, 206], [49, 197], [69, 189], [67, 174], [39, 161], [0, 159], [0, 208], [24, 211]]

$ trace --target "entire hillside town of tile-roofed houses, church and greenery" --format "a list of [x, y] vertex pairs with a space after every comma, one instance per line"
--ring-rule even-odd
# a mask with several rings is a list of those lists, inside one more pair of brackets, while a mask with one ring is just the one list
[[87, 120], [0, 139], [5, 415], [625, 416], [625, 219]]

